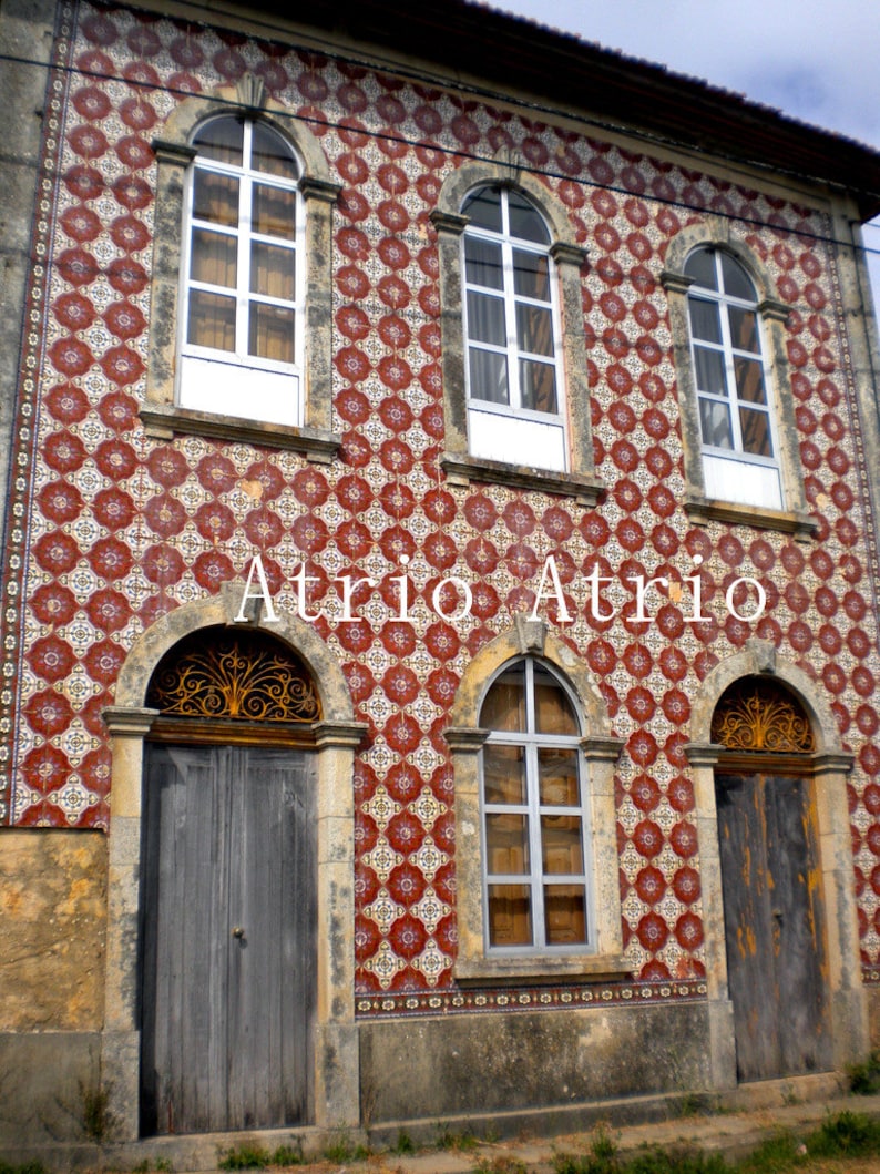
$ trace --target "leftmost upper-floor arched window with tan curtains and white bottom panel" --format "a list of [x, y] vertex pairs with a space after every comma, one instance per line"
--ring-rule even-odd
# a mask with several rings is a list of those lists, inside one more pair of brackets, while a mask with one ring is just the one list
[[182, 407], [303, 423], [299, 162], [272, 127], [221, 116], [192, 137], [184, 208]]

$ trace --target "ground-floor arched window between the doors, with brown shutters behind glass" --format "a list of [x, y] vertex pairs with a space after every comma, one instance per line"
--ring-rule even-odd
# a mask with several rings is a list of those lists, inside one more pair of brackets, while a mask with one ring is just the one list
[[480, 713], [486, 949], [581, 952], [595, 942], [581, 721], [534, 657], [509, 663]]

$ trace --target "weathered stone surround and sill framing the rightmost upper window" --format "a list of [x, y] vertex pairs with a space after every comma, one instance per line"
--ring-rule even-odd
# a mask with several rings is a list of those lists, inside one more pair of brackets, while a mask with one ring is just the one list
[[[697, 385], [690, 346], [688, 290], [693, 278], [684, 272], [688, 255], [699, 245], [723, 248], [735, 257], [751, 277], [758, 290], [758, 313], [766, 328], [767, 353], [765, 364], [772, 385], [773, 412], [779, 440], [779, 470], [786, 510], [740, 505], [706, 498], [703, 479], [703, 444], [697, 406]], [[686, 479], [684, 508], [698, 525], [723, 521], [730, 525], [757, 526], [793, 534], [798, 541], [810, 541], [818, 524], [810, 517], [804, 494], [804, 473], [797, 439], [794, 405], [788, 390], [785, 349], [785, 321], [790, 309], [772, 297], [770, 277], [753, 252], [733, 234], [729, 221], [706, 217], [700, 224], [690, 224], [670, 242], [661, 282], [669, 299], [669, 319], [672, 351], [678, 384], [682, 418], [682, 445]]]

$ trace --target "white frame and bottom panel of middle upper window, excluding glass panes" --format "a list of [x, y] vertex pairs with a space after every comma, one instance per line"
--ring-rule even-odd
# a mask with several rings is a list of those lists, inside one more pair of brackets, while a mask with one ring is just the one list
[[[485, 188], [499, 187], [496, 184], [483, 184]], [[480, 188], [468, 193], [468, 198], [474, 196]], [[501, 231], [468, 224], [465, 228], [461, 241], [461, 275], [462, 275], [462, 321], [465, 333], [465, 384], [467, 390], [468, 405], [468, 451], [473, 457], [482, 457], [489, 460], [503, 460], [519, 465], [536, 465], [541, 468], [554, 470], [556, 472], [569, 471], [569, 445], [566, 426], [566, 379], [562, 345], [562, 326], [559, 299], [559, 281], [551, 249], [553, 236], [544, 217], [534, 203], [523, 193], [517, 195], [527, 201], [534, 209], [544, 225], [548, 236], [547, 244], [539, 244], [534, 241], [526, 241], [513, 236], [510, 232], [509, 217], [509, 189], [499, 187], [501, 195]], [[465, 215], [467, 210], [465, 209]], [[502, 281], [501, 290], [490, 286], [478, 285], [468, 281], [467, 276], [467, 242], [469, 239], [482, 239], [501, 247]], [[546, 257], [548, 266], [549, 301], [539, 301], [524, 295], [516, 294], [514, 284], [514, 250], [529, 252], [534, 256]], [[471, 337], [471, 324], [468, 322], [468, 294], [480, 294], [494, 297], [503, 302], [505, 329], [507, 343], [500, 346], [486, 343]], [[553, 358], [548, 360], [546, 355], [535, 355], [523, 351], [519, 346], [516, 332], [516, 306], [534, 305], [549, 309], [551, 333], [553, 333]], [[493, 403], [481, 399], [474, 394], [471, 378], [471, 352], [486, 351], [494, 355], [503, 355], [507, 359], [507, 404]], [[556, 412], [540, 412], [522, 406], [522, 390], [520, 383], [520, 359], [539, 362], [554, 370], [556, 382]]]

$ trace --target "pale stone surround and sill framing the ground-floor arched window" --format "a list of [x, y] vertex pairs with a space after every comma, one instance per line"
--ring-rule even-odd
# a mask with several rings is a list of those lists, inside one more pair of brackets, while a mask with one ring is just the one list
[[[510, 661], [532, 655], [561, 674], [577, 699], [590, 731], [581, 740], [585, 760], [585, 787], [590, 851], [595, 946], [583, 953], [555, 952], [551, 947], [529, 954], [489, 953], [486, 949], [483, 909], [483, 843], [480, 819], [480, 753], [488, 730], [479, 716], [486, 691]], [[459, 952], [456, 981], [483, 979], [513, 983], [559, 980], [566, 977], [603, 978], [631, 973], [623, 957], [623, 923], [617, 856], [617, 815], [614, 768], [623, 741], [610, 735], [602, 697], [583, 662], [542, 621], [519, 616], [516, 625], [496, 636], [474, 656], [465, 670], [445, 738], [452, 751], [455, 780], [455, 880]]]

